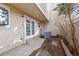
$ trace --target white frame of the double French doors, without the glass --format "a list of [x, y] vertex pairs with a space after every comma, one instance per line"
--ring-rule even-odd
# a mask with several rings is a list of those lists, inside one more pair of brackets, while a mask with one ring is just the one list
[[[26, 20], [29, 20], [30, 21], [30, 29], [32, 28], [32, 23], [31, 22], [34, 22], [35, 23], [35, 34], [32, 35], [32, 30], [30, 31], [30, 34], [29, 36], [26, 35]], [[36, 33], [38, 32], [38, 33]], [[24, 16], [24, 39], [25, 40], [29, 40], [29, 39], [32, 39], [33, 37], [37, 36], [39, 34], [39, 29], [38, 29], [38, 21], [34, 20], [33, 18], [29, 17], [29, 16]]]

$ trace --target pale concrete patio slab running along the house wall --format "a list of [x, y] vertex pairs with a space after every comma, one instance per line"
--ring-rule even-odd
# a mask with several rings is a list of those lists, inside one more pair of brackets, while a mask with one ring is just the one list
[[37, 38], [30, 40], [28, 44], [22, 44], [16, 48], [13, 48], [5, 53], [0, 54], [1, 56], [28, 56], [34, 50], [41, 47], [45, 39]]

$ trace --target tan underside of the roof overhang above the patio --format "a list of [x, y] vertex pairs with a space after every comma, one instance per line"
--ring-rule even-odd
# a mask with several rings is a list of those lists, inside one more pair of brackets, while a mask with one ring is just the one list
[[41, 12], [41, 10], [37, 7], [35, 3], [8, 3], [8, 5], [23, 11], [26, 15], [31, 16], [38, 21], [48, 21], [48, 19], [45, 17], [45, 15]]

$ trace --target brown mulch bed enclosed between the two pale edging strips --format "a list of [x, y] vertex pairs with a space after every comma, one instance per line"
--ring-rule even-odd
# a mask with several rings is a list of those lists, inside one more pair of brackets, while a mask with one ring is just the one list
[[[53, 41], [56, 41], [58, 46], [52, 45], [51, 43]], [[51, 38], [44, 46], [44, 49], [46, 49], [52, 56], [66, 56], [59, 38]]]

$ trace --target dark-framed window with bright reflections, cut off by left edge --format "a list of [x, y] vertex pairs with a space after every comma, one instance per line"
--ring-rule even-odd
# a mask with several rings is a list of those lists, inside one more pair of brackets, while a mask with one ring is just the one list
[[8, 25], [9, 13], [5, 8], [0, 7], [0, 25]]

